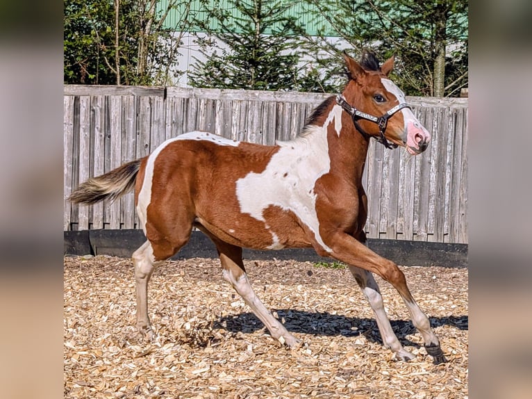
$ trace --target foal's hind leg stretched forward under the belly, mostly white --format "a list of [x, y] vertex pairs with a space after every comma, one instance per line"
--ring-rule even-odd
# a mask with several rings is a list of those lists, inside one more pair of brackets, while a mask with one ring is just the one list
[[[213, 238], [211, 236], [211, 238]], [[263, 302], [257, 297], [244, 269], [244, 263], [242, 262], [242, 248], [218, 241], [213, 238], [218, 250], [220, 262], [222, 263], [222, 275], [224, 279], [235, 288], [235, 291], [244, 299], [247, 305], [253, 311], [253, 314], [257, 316], [260, 321], [269, 330], [269, 333], [275, 339], [278, 339], [281, 343], [293, 347], [301, 343], [301, 341], [295, 338], [288, 330], [279, 323], [279, 320], [272, 316], [272, 313], [266, 309]]]

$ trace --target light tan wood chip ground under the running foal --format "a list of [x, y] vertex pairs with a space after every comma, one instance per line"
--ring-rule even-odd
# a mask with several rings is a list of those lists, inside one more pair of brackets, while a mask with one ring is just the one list
[[449, 360], [434, 365], [397, 291], [377, 277], [392, 327], [415, 355], [397, 361], [347, 269], [248, 261], [258, 296], [301, 339], [269, 336], [217, 259], [153, 274], [155, 341], [136, 333], [130, 259], [65, 257], [65, 398], [467, 398], [467, 270], [401, 268]]

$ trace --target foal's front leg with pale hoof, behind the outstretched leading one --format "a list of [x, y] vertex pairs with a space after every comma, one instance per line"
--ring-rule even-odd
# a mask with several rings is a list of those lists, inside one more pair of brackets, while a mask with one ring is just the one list
[[369, 302], [369, 306], [372, 307], [385, 347], [390, 348], [397, 353], [397, 356], [402, 360], [408, 361], [413, 359], [414, 355], [403, 348], [403, 345], [401, 345], [397, 339], [397, 336], [393, 332], [392, 325], [390, 325], [390, 320], [388, 319], [386, 311], [384, 310], [381, 291], [379, 290], [379, 286], [377, 285], [372, 272], [357, 268], [355, 266], [349, 266], [349, 271], [355, 277], [358, 286], [360, 286], [360, 289], [364, 293], [367, 302]]

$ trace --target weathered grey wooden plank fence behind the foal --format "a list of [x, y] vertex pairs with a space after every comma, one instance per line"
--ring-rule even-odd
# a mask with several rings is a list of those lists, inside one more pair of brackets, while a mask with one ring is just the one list
[[[89, 177], [192, 130], [265, 145], [290, 140], [328, 97], [131, 86], [65, 86], [64, 94], [65, 230], [140, 228], [131, 193], [114, 204], [67, 202]], [[367, 236], [467, 243], [467, 99], [407, 101], [433, 139], [415, 157], [372, 140], [364, 174]]]

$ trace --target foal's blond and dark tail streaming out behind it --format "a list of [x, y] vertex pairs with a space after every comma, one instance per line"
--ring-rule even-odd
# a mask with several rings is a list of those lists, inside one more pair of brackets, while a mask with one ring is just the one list
[[82, 183], [68, 197], [74, 204], [96, 204], [108, 199], [114, 201], [124, 195], [135, 186], [140, 163], [142, 159], [124, 163], [106, 174], [98, 177], [91, 177]]

